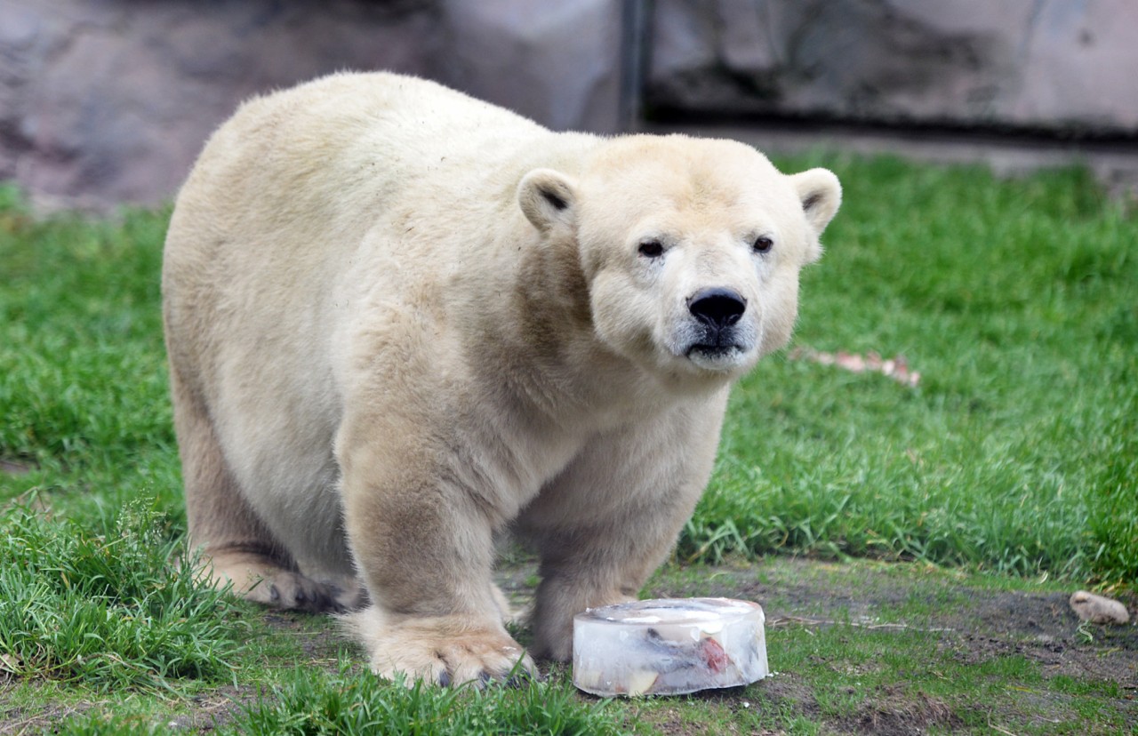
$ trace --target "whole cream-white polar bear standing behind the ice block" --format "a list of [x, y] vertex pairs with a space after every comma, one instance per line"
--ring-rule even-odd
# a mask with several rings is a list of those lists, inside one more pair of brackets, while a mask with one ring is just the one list
[[446, 685], [535, 671], [492, 580], [512, 534], [533, 654], [568, 659], [674, 545], [840, 199], [739, 142], [553, 133], [388, 73], [248, 101], [165, 246], [191, 545]]

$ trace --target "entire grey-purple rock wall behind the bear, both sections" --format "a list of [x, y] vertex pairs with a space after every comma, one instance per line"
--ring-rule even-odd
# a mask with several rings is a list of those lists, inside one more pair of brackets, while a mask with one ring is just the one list
[[2, 0], [0, 180], [49, 207], [158, 202], [241, 100], [345, 68], [556, 130], [627, 123], [640, 60], [657, 119], [1138, 140], [1136, 41], [1131, 0]]

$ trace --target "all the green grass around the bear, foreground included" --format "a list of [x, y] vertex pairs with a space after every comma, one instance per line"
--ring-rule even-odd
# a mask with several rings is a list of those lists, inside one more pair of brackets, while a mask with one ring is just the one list
[[[761, 364], [733, 396], [677, 557], [917, 559], [1132, 588], [1133, 216], [1078, 169], [999, 181], [891, 159], [787, 167], [817, 164], [842, 179], [846, 204], [827, 255], [803, 274], [795, 342], [904, 354], [922, 380], [910, 388], [786, 356]], [[1046, 678], [1014, 656], [976, 670], [943, 652], [930, 673], [927, 634], [844, 625], [773, 630], [773, 664], [790, 679], [749, 688], [747, 708], [737, 697], [599, 706], [571, 695], [563, 672], [520, 692], [397, 689], [341, 652], [325, 619], [282, 623], [196, 588], [171, 565], [185, 520], [159, 317], [167, 216], [41, 220], [0, 188], [0, 461], [19, 471], [0, 472], [5, 719], [47, 703], [63, 733], [165, 733], [179, 718], [201, 728], [206, 711], [226, 733], [353, 733], [385, 718], [414, 733], [446, 718], [494, 733], [809, 734], [891, 718], [896, 701], [923, 708], [932, 733], [984, 731], [992, 716], [978, 704], [1001, 717], [1026, 688], [1047, 694], [1052, 721], [990, 722], [1123, 728], [1116, 694], [1098, 680]], [[930, 596], [898, 615], [966, 601]], [[899, 659], [882, 662], [883, 648]]]

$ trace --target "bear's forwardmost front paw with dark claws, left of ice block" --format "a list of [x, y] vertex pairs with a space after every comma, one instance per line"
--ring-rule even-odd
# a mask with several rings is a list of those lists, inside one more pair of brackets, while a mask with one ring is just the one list
[[517, 684], [537, 676], [534, 660], [496, 621], [469, 617], [388, 617], [376, 606], [344, 617], [371, 653], [371, 670], [407, 684]]

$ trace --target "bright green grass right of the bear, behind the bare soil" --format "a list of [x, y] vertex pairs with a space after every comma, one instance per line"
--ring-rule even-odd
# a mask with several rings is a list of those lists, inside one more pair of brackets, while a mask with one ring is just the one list
[[[800, 165], [803, 162], [798, 162]], [[681, 553], [798, 549], [1138, 580], [1138, 225], [1085, 172], [841, 160], [795, 342], [734, 394]]]

